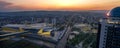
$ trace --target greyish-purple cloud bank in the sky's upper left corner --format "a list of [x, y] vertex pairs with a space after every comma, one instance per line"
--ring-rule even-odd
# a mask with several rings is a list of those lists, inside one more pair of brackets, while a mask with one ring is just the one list
[[0, 12], [17, 11], [17, 10], [23, 10], [23, 9], [24, 8], [22, 6], [17, 6], [17, 5], [14, 5], [13, 3], [0, 0]]

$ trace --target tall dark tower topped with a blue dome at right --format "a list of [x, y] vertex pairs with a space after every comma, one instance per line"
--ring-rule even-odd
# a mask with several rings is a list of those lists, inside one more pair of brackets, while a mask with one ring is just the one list
[[112, 9], [99, 24], [97, 48], [120, 48], [120, 7]]

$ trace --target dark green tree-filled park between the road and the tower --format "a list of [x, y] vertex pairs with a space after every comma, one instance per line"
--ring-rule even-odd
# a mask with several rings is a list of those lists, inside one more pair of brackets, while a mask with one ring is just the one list
[[82, 43], [83, 48], [88, 48], [89, 46], [92, 48], [96, 47], [96, 33], [92, 32], [82, 32], [79, 28], [74, 28], [73, 31], [79, 31], [80, 33], [78, 35], [75, 35], [74, 38], [68, 40], [69, 46], [76, 46], [80, 43]]

